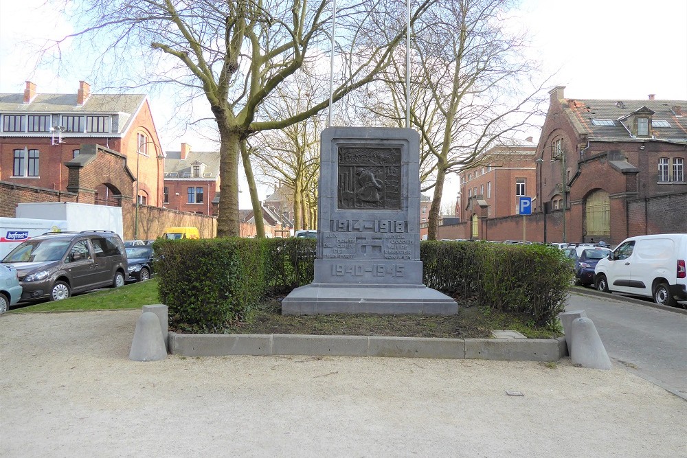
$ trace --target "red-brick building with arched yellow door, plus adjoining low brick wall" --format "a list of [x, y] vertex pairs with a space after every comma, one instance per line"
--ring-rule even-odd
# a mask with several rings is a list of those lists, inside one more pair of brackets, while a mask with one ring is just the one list
[[[572, 99], [564, 90], [549, 92], [534, 213], [482, 218], [480, 238], [517, 238], [526, 229], [532, 241], [617, 244], [687, 232], [687, 101]], [[466, 226], [440, 227], [439, 236], [460, 238]]]

